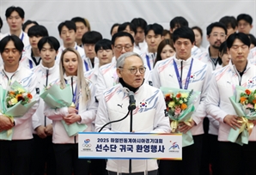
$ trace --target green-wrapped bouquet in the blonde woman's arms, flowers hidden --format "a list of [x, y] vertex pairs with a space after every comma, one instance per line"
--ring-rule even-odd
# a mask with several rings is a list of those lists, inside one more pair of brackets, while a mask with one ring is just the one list
[[[76, 107], [72, 102], [72, 92], [70, 85], [67, 85], [64, 89], [59, 87], [57, 84], [51, 85], [51, 87], [46, 87], [45, 92], [40, 94], [40, 97], [46, 102], [48, 106], [52, 109], [58, 109], [62, 107]], [[64, 120], [61, 120], [64, 124], [64, 129], [66, 130], [68, 136], [76, 136], [78, 132], [82, 132], [87, 129], [86, 124], [66, 124]]]

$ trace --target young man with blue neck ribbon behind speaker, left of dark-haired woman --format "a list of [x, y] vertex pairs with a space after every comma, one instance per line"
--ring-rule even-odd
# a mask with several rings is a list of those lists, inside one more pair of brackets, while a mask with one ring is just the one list
[[162, 31], [163, 27], [157, 23], [149, 24], [145, 29], [145, 40], [148, 49], [141, 54], [141, 57], [143, 57], [144, 63], [147, 64], [149, 70], [154, 67], [157, 48], [163, 39]]

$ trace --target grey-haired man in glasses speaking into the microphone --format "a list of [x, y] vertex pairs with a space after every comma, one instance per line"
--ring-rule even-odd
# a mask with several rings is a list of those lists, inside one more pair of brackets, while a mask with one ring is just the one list
[[[99, 131], [104, 124], [124, 118], [129, 108], [132, 117], [130, 112], [127, 118], [108, 124], [102, 131], [170, 133], [169, 118], [165, 115], [166, 105], [161, 90], [143, 83], [146, 68], [142, 57], [137, 53], [127, 52], [119, 57], [116, 67], [119, 84], [107, 88], [103, 93], [95, 120], [95, 130]], [[157, 161], [147, 160], [147, 164], [145, 162], [107, 160], [107, 171], [110, 175], [116, 175], [118, 169], [122, 175], [143, 175], [145, 171], [149, 175], [156, 175]]]

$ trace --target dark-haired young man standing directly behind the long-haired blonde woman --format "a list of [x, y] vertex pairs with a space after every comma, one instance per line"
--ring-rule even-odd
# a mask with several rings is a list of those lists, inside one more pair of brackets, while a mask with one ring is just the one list
[[58, 49], [58, 55], [56, 57], [56, 61], [59, 62], [59, 58], [64, 51], [65, 48], [72, 47], [75, 48], [76, 51], [79, 52], [82, 62], [83, 62], [83, 70], [88, 71], [92, 69], [92, 64], [88, 60], [88, 57], [85, 57], [84, 50], [82, 47], [76, 45], [76, 24], [74, 21], [64, 21], [58, 25], [58, 33], [59, 37], [63, 40], [63, 45], [61, 45]]

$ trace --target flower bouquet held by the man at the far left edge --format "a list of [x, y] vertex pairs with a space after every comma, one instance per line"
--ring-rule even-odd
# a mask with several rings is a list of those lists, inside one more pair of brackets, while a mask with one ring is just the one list
[[[14, 118], [24, 116], [27, 111], [34, 106], [36, 100], [33, 100], [33, 95], [21, 86], [20, 83], [15, 81], [7, 91], [0, 87], [1, 105], [0, 112], [4, 116], [9, 117], [11, 121]], [[10, 130], [3, 130], [0, 132], [0, 140], [11, 140], [13, 135], [13, 128]]]

